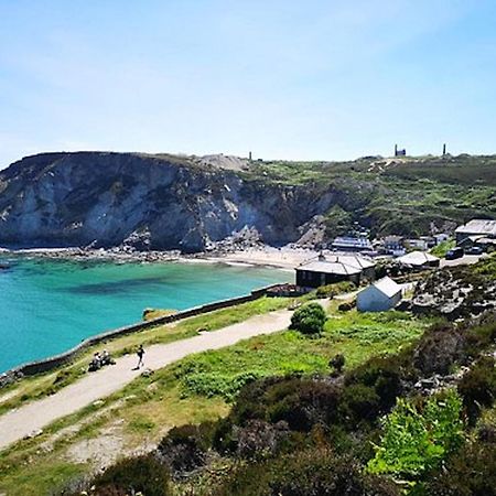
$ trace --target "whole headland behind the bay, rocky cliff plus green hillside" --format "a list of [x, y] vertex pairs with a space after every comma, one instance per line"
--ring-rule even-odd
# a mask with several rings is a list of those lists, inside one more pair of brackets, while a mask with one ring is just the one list
[[245, 226], [281, 246], [325, 241], [354, 222], [416, 235], [496, 216], [495, 191], [494, 157], [249, 163], [223, 155], [44, 153], [0, 172], [0, 244], [128, 240], [200, 251]]

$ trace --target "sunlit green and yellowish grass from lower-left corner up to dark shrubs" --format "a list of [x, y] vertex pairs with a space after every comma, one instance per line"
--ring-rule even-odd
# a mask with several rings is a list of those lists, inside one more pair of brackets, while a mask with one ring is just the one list
[[[263, 300], [239, 310], [230, 309], [230, 317], [222, 312], [218, 321], [211, 317], [209, 323], [215, 326], [220, 322], [224, 325], [227, 321], [244, 320], [274, 304]], [[0, 494], [48, 494], [45, 488], [60, 486], [87, 472], [90, 467], [67, 462], [67, 449], [74, 443], [99, 438], [116, 422], [122, 429], [126, 446], [139, 450], [144, 440], [158, 442], [174, 425], [226, 416], [229, 402], [246, 380], [294, 373], [326, 373], [328, 359], [336, 353], [343, 353], [346, 368], [352, 368], [373, 355], [396, 353], [414, 342], [429, 323], [400, 312], [338, 313], [334, 308], [319, 337], [283, 331], [193, 355], [150, 377], [137, 378], [101, 406], [90, 405], [54, 422], [39, 438], [21, 441], [2, 453]], [[62, 429], [76, 424], [80, 428], [61, 435], [48, 454], [40, 449], [41, 443]], [[31, 478], [29, 473], [33, 474]], [[32, 493], [32, 484], [42, 490]]]

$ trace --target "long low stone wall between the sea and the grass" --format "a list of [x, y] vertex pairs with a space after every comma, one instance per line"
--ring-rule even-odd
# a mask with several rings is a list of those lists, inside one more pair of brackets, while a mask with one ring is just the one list
[[[247, 303], [249, 301], [258, 300], [259, 298], [267, 294], [271, 289], [277, 288], [280, 284], [271, 284], [265, 288], [260, 288], [251, 291], [250, 294], [238, 298], [230, 298], [228, 300], [220, 300], [213, 303], [207, 303], [201, 306], [194, 306], [192, 309], [183, 310], [181, 312], [174, 313], [172, 315], [164, 315], [157, 319], [152, 319], [145, 322], [139, 322], [137, 324], [127, 325], [125, 327], [119, 327], [112, 331], [107, 331], [101, 334], [97, 334], [96, 336], [88, 337], [80, 342], [77, 346], [67, 352], [61, 353], [60, 355], [55, 355], [48, 358], [44, 358], [42, 360], [30, 362], [28, 364], [20, 365], [19, 367], [12, 368], [7, 373], [0, 376], [0, 388], [7, 384], [10, 384], [12, 380], [23, 376], [33, 376], [35, 374], [45, 373], [57, 368], [64, 364], [69, 363], [75, 358], [76, 355], [82, 353], [84, 349], [98, 344], [106, 342], [108, 339], [112, 339], [115, 337], [125, 336], [127, 334], [137, 333], [140, 331], [144, 331], [147, 328], [157, 327], [158, 325], [169, 324], [171, 322], [181, 321], [183, 319], [188, 319], [195, 315], [201, 315], [203, 313], [214, 312], [215, 310], [227, 309], [229, 306], [239, 305], [241, 303]], [[12, 380], [1, 380], [2, 378]]]

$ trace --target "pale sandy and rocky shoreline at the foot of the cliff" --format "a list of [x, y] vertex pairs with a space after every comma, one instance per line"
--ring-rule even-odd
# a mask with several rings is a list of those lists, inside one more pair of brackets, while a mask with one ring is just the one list
[[238, 267], [267, 267], [292, 271], [300, 263], [319, 255], [317, 251], [296, 248], [260, 247], [233, 251], [181, 254], [171, 251], [137, 251], [131, 249], [84, 248], [0, 248], [0, 256], [33, 257], [50, 260], [108, 261], [114, 263], [225, 263]]

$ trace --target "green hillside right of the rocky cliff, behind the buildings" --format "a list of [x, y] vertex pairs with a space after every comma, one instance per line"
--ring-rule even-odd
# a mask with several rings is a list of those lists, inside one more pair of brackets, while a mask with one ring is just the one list
[[[496, 217], [496, 157], [424, 157], [351, 162], [258, 162], [247, 179], [333, 192], [330, 236], [359, 222], [378, 234], [428, 234]], [[336, 226], [338, 224], [338, 226]]]

